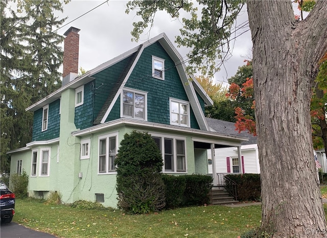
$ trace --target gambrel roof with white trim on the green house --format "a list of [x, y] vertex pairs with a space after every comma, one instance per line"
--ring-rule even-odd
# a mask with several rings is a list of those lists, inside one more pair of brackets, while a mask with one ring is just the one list
[[171, 59], [175, 63], [175, 67], [177, 69], [177, 72], [179, 74], [179, 77], [182, 81], [184, 90], [189, 98], [190, 105], [192, 107], [192, 110], [194, 111], [196, 120], [199, 124], [199, 127], [201, 130], [209, 130], [209, 127], [207, 125], [207, 122], [204, 117], [204, 113], [202, 111], [201, 105], [198, 101], [197, 94], [203, 99], [204, 103], [208, 106], [213, 105], [213, 101], [208, 97], [204, 89], [200, 86], [200, 84], [196, 81], [196, 79], [188, 74], [185, 73], [185, 64], [181, 57], [181, 55], [178, 53], [178, 51], [175, 49], [172, 42], [168, 39], [167, 35], [165, 33], [161, 33], [160, 35], [144, 42], [141, 45], [138, 45], [134, 47], [132, 50], [127, 51], [126, 53], [113, 58], [112, 60], [109, 60], [99, 66], [97, 66], [94, 69], [89, 70], [86, 74], [77, 77], [72, 82], [69, 82], [68, 84], [64, 85], [62, 88], [58, 89], [57, 91], [50, 94], [48, 97], [42, 99], [38, 103], [28, 107], [26, 110], [30, 111], [36, 111], [37, 109], [57, 100], [61, 97], [61, 92], [67, 88], [73, 88], [76, 89], [92, 80], [92, 76], [97, 74], [98, 72], [101, 72], [101, 70], [110, 67], [111, 65], [120, 62], [126, 58], [129, 58], [129, 62], [126, 66], [126, 68], [121, 73], [119, 79], [116, 81], [116, 85], [112, 89], [112, 93], [110, 93], [110, 96], [107, 98], [106, 102], [102, 106], [99, 114], [97, 115], [97, 118], [94, 121], [95, 125], [104, 123], [106, 120], [106, 117], [108, 116], [114, 102], [118, 99], [122, 88], [126, 84], [134, 66], [137, 63], [137, 60], [141, 56], [143, 50], [148, 47], [149, 45], [159, 42], [160, 45], [165, 49], [167, 54], [171, 57]]

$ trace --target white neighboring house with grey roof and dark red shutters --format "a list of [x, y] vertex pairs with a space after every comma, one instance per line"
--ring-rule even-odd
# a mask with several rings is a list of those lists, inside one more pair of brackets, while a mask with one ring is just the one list
[[223, 182], [222, 176], [228, 173], [250, 173], [260, 174], [259, 152], [256, 136], [249, 134], [247, 131], [239, 133], [236, 131], [235, 123], [221, 121], [213, 118], [207, 118], [209, 127], [216, 132], [226, 133], [229, 135], [240, 135], [247, 137], [247, 141], [241, 142], [241, 155], [237, 147], [216, 148], [214, 152], [216, 170], [213, 169], [211, 160], [212, 152], [207, 151], [208, 156], [208, 174], [216, 171], [219, 182]]

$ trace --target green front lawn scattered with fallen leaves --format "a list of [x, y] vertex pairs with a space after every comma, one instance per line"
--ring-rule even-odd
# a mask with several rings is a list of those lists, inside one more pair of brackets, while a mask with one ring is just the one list
[[237, 237], [260, 226], [261, 206], [201, 206], [126, 215], [16, 199], [13, 221], [58, 237]]

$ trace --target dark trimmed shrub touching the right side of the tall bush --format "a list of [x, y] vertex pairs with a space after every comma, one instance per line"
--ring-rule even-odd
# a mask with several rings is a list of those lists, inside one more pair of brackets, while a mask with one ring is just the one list
[[186, 186], [185, 176], [162, 175], [166, 191], [166, 206], [165, 208], [177, 208], [183, 204], [183, 194]]

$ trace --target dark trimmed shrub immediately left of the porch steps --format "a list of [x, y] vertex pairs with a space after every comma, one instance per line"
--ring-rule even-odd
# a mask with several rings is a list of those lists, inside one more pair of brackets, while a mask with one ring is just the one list
[[213, 178], [207, 175], [185, 175], [184, 205], [203, 205], [210, 202]]

